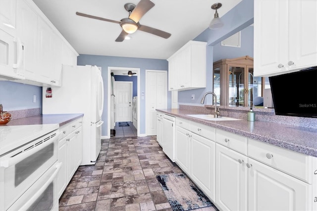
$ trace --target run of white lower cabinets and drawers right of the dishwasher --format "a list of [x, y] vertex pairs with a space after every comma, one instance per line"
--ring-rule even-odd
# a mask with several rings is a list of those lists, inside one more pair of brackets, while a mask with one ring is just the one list
[[182, 118], [176, 125], [175, 161], [218, 209], [317, 210], [317, 158]]

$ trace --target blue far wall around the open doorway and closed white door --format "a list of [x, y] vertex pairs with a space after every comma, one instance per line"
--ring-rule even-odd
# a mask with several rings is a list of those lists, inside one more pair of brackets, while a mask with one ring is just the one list
[[[80, 54], [77, 57], [78, 65], [97, 65], [102, 67], [102, 76], [104, 79], [104, 89], [105, 93], [108, 91], [108, 77], [107, 75], [108, 67], [130, 67], [130, 68], [140, 68], [140, 93], [145, 93], [145, 70], [168, 70], [168, 62], [163, 59], [148, 59], [148, 58], [130, 58], [130, 57], [119, 57], [119, 56], [104, 56], [104, 55], [87, 55]], [[107, 98], [105, 98], [104, 105], [107, 105]], [[171, 107], [171, 94], [167, 92], [167, 106]], [[107, 136], [107, 108], [104, 107], [104, 113], [102, 119], [105, 121], [102, 128], [102, 135]], [[140, 99], [140, 134], [145, 134], [145, 99]]]

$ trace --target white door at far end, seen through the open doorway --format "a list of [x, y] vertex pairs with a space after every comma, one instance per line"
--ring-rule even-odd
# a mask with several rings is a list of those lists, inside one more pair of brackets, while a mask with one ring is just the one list
[[115, 121], [132, 121], [132, 82], [115, 81]]

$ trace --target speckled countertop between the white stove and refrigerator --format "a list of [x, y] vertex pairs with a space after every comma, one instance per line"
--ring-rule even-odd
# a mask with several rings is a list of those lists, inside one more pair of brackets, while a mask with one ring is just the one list
[[36, 116], [29, 116], [20, 119], [14, 119], [1, 126], [15, 126], [15, 125], [35, 125], [35, 124], [59, 124], [62, 126], [71, 122], [77, 118], [84, 116], [83, 113], [71, 113], [71, 114], [43, 114]]

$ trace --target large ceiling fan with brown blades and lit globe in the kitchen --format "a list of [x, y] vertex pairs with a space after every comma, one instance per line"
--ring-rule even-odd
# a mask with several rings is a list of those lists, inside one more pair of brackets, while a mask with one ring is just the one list
[[137, 5], [133, 3], [126, 3], [124, 4], [124, 8], [129, 12], [129, 17], [123, 18], [120, 21], [110, 20], [81, 12], [76, 12], [76, 15], [120, 24], [120, 26], [122, 27], [122, 31], [115, 42], [122, 42], [128, 34], [132, 34], [137, 30], [167, 39], [171, 36], [170, 33], [152, 28], [150, 26], [141, 25], [139, 23], [139, 20], [142, 18], [142, 16], [147, 13], [152, 7], [154, 7], [154, 5], [155, 3], [153, 3], [151, 0], [140, 0]]

